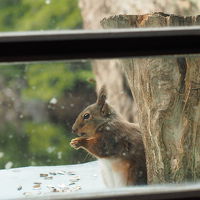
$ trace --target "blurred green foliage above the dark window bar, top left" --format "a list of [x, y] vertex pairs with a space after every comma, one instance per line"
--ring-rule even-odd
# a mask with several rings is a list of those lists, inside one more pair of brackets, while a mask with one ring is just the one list
[[0, 31], [82, 27], [77, 0], [1, 0]]

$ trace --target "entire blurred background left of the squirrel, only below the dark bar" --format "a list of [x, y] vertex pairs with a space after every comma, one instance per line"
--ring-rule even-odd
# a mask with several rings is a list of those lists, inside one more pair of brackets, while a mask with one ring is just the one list
[[0, 71], [1, 169], [92, 159], [69, 146], [75, 118], [95, 101], [89, 62], [1, 65]]

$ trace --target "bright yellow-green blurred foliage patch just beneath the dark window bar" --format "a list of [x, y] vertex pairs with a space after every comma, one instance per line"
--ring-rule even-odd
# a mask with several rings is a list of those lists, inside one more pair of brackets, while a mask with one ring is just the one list
[[[77, 64], [81, 68], [76, 67]], [[90, 78], [93, 78], [93, 74], [89, 63], [33, 64], [26, 68], [28, 87], [23, 94], [25, 98], [49, 101], [61, 97], [65, 91], [73, 90], [78, 82], [87, 83]]]

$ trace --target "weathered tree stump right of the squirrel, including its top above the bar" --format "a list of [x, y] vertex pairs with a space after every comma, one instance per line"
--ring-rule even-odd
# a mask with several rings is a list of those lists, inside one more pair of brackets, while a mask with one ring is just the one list
[[[199, 25], [200, 16], [154, 13], [104, 19], [104, 28]], [[200, 58], [122, 59], [138, 107], [148, 182], [200, 179]]]

